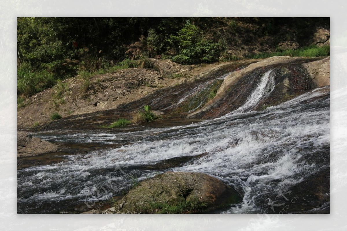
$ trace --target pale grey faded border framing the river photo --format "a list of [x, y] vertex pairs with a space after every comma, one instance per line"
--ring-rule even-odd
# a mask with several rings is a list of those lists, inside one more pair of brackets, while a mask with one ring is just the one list
[[[346, 230], [346, 1], [2, 0], [0, 230]], [[17, 214], [17, 17], [330, 17], [330, 214]]]

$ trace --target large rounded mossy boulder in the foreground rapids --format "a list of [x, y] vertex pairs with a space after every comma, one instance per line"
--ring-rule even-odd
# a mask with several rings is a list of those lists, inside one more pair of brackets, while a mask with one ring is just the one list
[[103, 213], [194, 213], [239, 203], [240, 195], [203, 173], [166, 172], [141, 182]]

